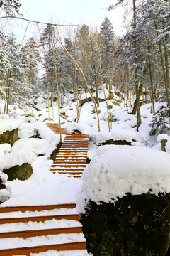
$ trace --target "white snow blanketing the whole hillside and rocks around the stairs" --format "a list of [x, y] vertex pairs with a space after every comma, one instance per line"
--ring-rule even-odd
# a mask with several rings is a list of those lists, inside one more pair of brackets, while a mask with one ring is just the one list
[[[125, 196], [127, 192], [139, 194], [152, 189], [153, 193], [157, 194], [159, 191], [170, 191], [170, 134], [162, 135], [168, 140], [168, 153], [161, 152], [160, 138], [157, 141], [157, 136], [149, 136], [151, 104], [141, 107], [142, 125], [139, 132], [136, 131], [136, 116], [128, 114], [123, 106], [113, 105], [111, 132], [108, 132], [106, 102], [101, 102], [98, 108], [101, 110], [98, 132], [96, 113], [92, 113], [94, 103], [87, 102], [81, 107], [77, 123], [77, 107], [67, 100], [62, 112], [69, 118], [67, 121], [61, 118], [61, 121], [65, 122], [62, 127], [69, 132], [76, 129], [88, 133], [90, 138], [88, 158], [91, 159], [91, 163], [86, 167], [82, 179], [78, 179], [50, 172], [50, 154], [60, 142], [60, 135], [54, 134], [45, 123], [49, 122], [48, 117], [54, 117], [50, 122], [59, 122], [58, 110], [57, 106], [54, 109], [51, 107], [48, 114], [42, 97], [36, 103], [40, 111], [30, 107], [25, 110], [14, 110], [11, 107], [11, 117], [0, 115], [0, 134], [6, 130], [19, 128], [19, 139], [13, 146], [0, 145], [0, 171], [16, 164], [21, 165], [23, 162], [28, 162], [33, 167], [33, 174], [27, 181], [4, 181], [10, 198], [1, 206], [77, 203], [77, 210], [83, 211], [85, 199], [99, 203], [115, 201], [118, 196]], [[156, 104], [156, 110], [159, 105]], [[33, 138], [36, 134], [39, 134], [39, 137]], [[126, 140], [131, 142], [132, 146], [99, 146], [109, 139]], [[0, 191], [0, 195], [1, 193], [4, 192]], [[79, 252], [49, 253], [48, 256], [79, 256]]]

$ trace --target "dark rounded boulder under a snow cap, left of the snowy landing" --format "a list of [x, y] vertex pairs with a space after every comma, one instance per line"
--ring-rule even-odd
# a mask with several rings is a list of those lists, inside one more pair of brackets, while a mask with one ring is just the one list
[[4, 169], [3, 172], [8, 175], [8, 181], [13, 181], [17, 178], [18, 180], [26, 181], [33, 174], [33, 169], [30, 164], [23, 163], [21, 166], [16, 165], [9, 169]]

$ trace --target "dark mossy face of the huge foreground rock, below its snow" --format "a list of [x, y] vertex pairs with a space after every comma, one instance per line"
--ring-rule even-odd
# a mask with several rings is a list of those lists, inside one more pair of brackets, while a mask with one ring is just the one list
[[81, 223], [94, 256], [164, 256], [169, 247], [170, 193], [128, 193], [113, 203], [89, 201]]

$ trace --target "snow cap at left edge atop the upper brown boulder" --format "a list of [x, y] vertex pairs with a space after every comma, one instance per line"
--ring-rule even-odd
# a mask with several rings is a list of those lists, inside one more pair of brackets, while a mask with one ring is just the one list
[[16, 118], [3, 118], [0, 119], [0, 134], [6, 131], [12, 131], [21, 125], [21, 121]]

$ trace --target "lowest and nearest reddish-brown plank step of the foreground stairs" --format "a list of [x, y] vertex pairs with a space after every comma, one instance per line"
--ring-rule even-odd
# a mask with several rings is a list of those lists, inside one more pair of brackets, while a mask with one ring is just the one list
[[0, 256], [30, 255], [30, 253], [47, 252], [48, 250], [86, 250], [86, 242], [72, 242], [60, 245], [42, 245], [34, 247], [14, 248], [0, 250]]

